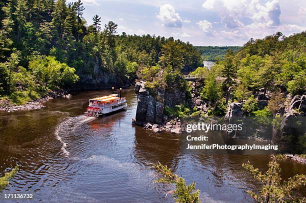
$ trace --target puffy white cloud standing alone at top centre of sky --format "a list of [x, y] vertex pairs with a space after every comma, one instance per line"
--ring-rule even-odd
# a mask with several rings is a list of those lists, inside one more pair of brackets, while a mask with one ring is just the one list
[[182, 19], [175, 9], [170, 4], [163, 4], [159, 8], [157, 17], [161, 20], [164, 26], [167, 27], [181, 27]]

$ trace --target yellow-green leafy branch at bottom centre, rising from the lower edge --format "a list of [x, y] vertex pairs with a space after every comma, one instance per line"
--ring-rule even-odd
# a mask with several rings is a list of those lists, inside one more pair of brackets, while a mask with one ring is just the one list
[[[167, 194], [172, 193], [173, 198], [177, 203], [199, 203], [199, 190], [195, 190], [195, 182], [186, 185], [184, 178], [174, 174], [166, 165], [160, 162], [153, 164], [152, 168], [156, 170], [162, 177], [154, 182], [172, 183], [175, 184], [175, 190], [170, 190]], [[166, 195], [167, 195], [166, 194]]]

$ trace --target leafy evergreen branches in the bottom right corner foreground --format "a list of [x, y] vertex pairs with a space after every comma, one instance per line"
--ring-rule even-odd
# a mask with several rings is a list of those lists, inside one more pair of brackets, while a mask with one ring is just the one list
[[282, 181], [279, 175], [280, 167], [279, 160], [284, 159], [284, 155], [272, 155], [272, 161], [268, 163], [268, 169], [262, 173], [253, 165], [243, 163], [242, 166], [249, 170], [253, 177], [262, 182], [263, 185], [259, 193], [247, 191], [257, 202], [305, 202], [305, 197], [293, 195], [292, 190], [306, 185], [306, 175], [296, 174], [288, 178], [287, 181]]

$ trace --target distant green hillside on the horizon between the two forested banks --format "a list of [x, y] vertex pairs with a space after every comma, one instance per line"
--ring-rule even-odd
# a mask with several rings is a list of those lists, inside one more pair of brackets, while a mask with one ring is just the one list
[[242, 46], [194, 46], [203, 56], [204, 60], [215, 61], [215, 58], [223, 59], [226, 50], [239, 51]]

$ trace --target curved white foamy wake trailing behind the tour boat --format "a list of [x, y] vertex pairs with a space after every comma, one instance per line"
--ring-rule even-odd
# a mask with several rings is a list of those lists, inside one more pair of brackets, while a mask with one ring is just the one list
[[56, 126], [56, 128], [54, 130], [54, 134], [55, 134], [56, 139], [59, 140], [60, 143], [62, 144], [60, 150], [62, 151], [63, 155], [65, 155], [65, 156], [69, 155], [69, 151], [66, 150], [67, 143], [64, 142], [63, 139], [62, 139], [63, 136], [69, 134], [69, 132], [71, 132], [71, 130], [73, 130], [73, 128], [75, 128], [76, 126], [79, 126], [83, 123], [89, 122], [93, 119], [95, 119], [95, 117], [78, 115], [78, 116], [75, 116], [75, 117], [68, 117]]

